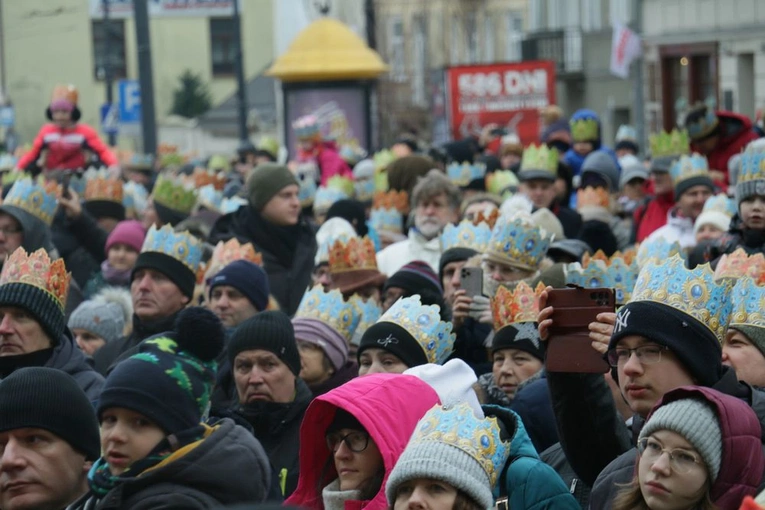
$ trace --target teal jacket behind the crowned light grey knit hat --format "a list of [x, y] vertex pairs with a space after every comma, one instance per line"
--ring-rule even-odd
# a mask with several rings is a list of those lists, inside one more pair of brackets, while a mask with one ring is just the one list
[[[539, 459], [521, 418], [504, 407], [483, 406], [486, 416], [494, 416], [504, 425], [510, 443], [510, 458], [497, 484], [505, 488], [511, 509], [581, 510], [566, 484], [553, 468]], [[495, 488], [495, 495], [498, 492]]]

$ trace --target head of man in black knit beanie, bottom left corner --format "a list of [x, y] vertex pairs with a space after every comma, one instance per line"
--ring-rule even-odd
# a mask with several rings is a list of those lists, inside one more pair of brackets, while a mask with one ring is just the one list
[[66, 508], [88, 490], [98, 420], [69, 375], [22, 368], [0, 383], [0, 507]]

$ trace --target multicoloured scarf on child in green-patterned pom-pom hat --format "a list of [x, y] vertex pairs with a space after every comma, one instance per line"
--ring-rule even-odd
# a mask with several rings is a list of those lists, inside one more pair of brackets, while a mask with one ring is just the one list
[[120, 484], [142, 476], [151, 471], [152, 468], [159, 466], [178, 450], [201, 442], [212, 430], [210, 427], [200, 424], [178, 434], [171, 434], [160, 441], [146, 457], [137, 460], [119, 475], [113, 475], [109, 470], [109, 464], [101, 457], [88, 472], [88, 485], [99, 498], [106, 496]]

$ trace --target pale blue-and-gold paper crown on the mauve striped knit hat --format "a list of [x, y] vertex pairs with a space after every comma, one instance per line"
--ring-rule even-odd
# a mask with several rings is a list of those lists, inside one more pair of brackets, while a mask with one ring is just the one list
[[339, 290], [324, 292], [322, 286], [317, 285], [303, 295], [295, 318], [320, 320], [350, 342], [361, 321], [359, 301], [355, 296], [343, 301]]

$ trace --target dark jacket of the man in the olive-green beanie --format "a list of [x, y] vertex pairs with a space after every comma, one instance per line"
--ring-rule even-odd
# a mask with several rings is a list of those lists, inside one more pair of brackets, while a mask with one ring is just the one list
[[297, 245], [290, 253], [292, 260], [289, 261], [272, 249], [278, 239], [261, 237], [261, 231], [254, 227], [256, 223], [262, 224], [265, 221], [252, 207], [242, 206], [221, 216], [215, 222], [210, 232], [210, 243], [215, 245], [218, 241], [228, 241], [232, 237], [236, 237], [242, 243], [252, 243], [255, 249], [263, 254], [263, 269], [268, 275], [271, 295], [287, 315], [293, 315], [305, 290], [311, 285], [314, 255], [317, 250], [315, 231], [301, 218], [294, 229]]

